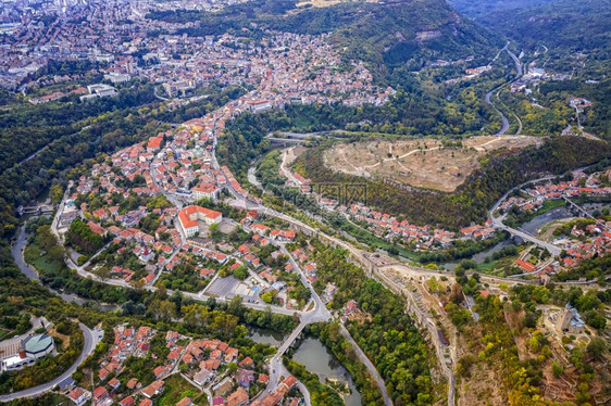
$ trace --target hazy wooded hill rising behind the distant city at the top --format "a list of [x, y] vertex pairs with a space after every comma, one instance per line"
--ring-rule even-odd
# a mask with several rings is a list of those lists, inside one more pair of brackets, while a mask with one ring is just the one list
[[351, 59], [369, 62], [377, 79], [396, 83], [400, 73], [428, 61], [490, 55], [502, 40], [462, 17], [445, 0], [351, 1], [324, 8], [297, 7], [296, 0], [255, 0], [219, 13], [184, 10], [155, 12], [149, 18], [196, 22], [189, 35], [240, 36], [274, 29], [297, 34], [332, 34]]

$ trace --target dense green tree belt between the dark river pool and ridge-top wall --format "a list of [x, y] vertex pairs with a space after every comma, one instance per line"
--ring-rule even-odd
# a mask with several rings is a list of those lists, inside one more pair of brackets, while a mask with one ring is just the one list
[[[348, 321], [347, 328], [384, 378], [394, 403], [435, 402], [437, 395], [431, 378], [435, 355], [406, 314], [403, 300], [349, 263], [345, 251], [317, 240], [312, 245], [317, 265], [314, 288], [322, 293], [327, 283], [337, 286], [329, 307], [340, 309], [354, 300], [359, 308], [371, 315], [371, 318]], [[331, 331], [321, 335], [326, 339], [327, 333]]]

